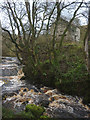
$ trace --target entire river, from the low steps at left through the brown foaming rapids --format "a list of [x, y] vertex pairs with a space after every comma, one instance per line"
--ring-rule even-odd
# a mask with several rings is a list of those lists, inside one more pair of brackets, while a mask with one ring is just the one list
[[25, 109], [27, 104], [44, 106], [46, 115], [52, 118], [89, 118], [90, 108], [75, 96], [61, 94], [57, 89], [37, 87], [20, 80], [24, 75], [16, 58], [2, 59], [3, 106], [15, 113]]

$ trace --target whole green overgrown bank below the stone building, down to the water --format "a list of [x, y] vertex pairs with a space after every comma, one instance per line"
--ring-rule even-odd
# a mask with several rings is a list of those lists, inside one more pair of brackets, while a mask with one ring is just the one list
[[[40, 48], [40, 50], [45, 48]], [[30, 61], [24, 68], [26, 79], [33, 84], [42, 84], [58, 88], [64, 94], [77, 95], [84, 98], [84, 103], [90, 102], [90, 76], [86, 70], [84, 46], [81, 43], [63, 43], [57, 59], [50, 61], [49, 55], [41, 54], [41, 61], [32, 66]]]

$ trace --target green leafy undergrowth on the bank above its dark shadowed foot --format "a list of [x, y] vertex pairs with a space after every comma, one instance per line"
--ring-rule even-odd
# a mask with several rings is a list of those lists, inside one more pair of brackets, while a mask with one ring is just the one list
[[[88, 79], [83, 47], [76, 44], [62, 47], [60, 54], [56, 50], [56, 59], [49, 58], [34, 62], [27, 57], [24, 73], [30, 82], [55, 87], [57, 82], [77, 82]], [[43, 57], [43, 55], [42, 55]], [[53, 58], [53, 57], [52, 57]]]

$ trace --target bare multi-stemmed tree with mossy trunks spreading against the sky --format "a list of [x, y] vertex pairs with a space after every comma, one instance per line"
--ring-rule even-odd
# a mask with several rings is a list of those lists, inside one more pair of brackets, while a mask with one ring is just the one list
[[[6, 28], [2, 29], [8, 32], [11, 41], [15, 44], [16, 55], [19, 59], [22, 58], [23, 64], [25, 64], [29, 56], [31, 56], [30, 58], [32, 59], [33, 65], [37, 64], [38, 58], [35, 52], [37, 38], [44, 30], [46, 31], [46, 36], [48, 36], [53, 23], [55, 23], [55, 26], [51, 51], [53, 52], [54, 58], [56, 57], [55, 40], [58, 21], [60, 20], [61, 12], [73, 4], [76, 4], [76, 2], [65, 4], [64, 1], [61, 0], [60, 2], [39, 3], [39, 1], [29, 2], [29, 0], [27, 0], [27, 2], [25, 1], [24, 3], [10, 3], [7, 0], [6, 3], [1, 5], [2, 9], [6, 11], [10, 23], [10, 30]], [[75, 10], [72, 19], [69, 21], [61, 37], [59, 49], [64, 40], [65, 33], [76, 17], [83, 1], [78, 4], [79, 6]], [[16, 34], [16, 31], [18, 34]]]

